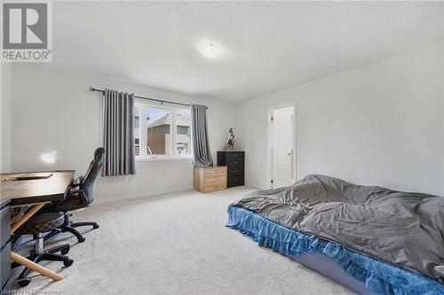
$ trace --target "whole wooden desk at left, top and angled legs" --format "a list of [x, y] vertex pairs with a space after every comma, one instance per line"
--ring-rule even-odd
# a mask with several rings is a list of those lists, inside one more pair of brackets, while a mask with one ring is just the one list
[[[0, 203], [9, 199], [10, 206], [30, 206], [23, 216], [12, 223], [11, 232], [13, 233], [16, 229], [19, 229], [20, 226], [28, 221], [28, 219], [40, 210], [44, 204], [63, 200], [66, 196], [69, 184], [73, 180], [74, 173], [74, 170], [52, 171], [52, 175], [49, 178], [21, 181], [11, 181], [9, 179], [26, 173], [1, 174]], [[15, 252], [11, 252], [11, 259], [44, 276], [52, 278], [54, 281], [63, 280], [63, 276], [59, 276], [51, 270], [44, 268]]]

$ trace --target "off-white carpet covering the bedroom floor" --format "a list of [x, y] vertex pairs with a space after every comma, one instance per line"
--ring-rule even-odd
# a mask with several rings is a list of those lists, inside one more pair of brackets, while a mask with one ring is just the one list
[[[70, 268], [45, 263], [65, 280], [33, 273], [20, 291], [45, 294], [352, 294], [341, 285], [225, 227], [226, 207], [250, 191], [195, 191], [93, 204], [74, 221], [100, 228], [72, 245]], [[47, 245], [48, 247], [51, 245]]]

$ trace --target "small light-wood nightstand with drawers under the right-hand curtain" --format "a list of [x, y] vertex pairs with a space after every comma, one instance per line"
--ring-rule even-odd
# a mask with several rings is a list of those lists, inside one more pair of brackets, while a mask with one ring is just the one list
[[204, 194], [226, 190], [226, 166], [194, 167], [194, 190]]

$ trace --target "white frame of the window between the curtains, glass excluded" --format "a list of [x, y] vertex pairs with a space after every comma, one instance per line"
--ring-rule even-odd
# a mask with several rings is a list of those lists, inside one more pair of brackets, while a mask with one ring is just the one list
[[[190, 154], [178, 154], [177, 153], [177, 123], [176, 123], [176, 114], [181, 111], [188, 111], [191, 113], [189, 107], [180, 106], [180, 105], [163, 105], [156, 104], [153, 102], [149, 102], [143, 99], [134, 99], [134, 108], [139, 107], [139, 156], [135, 155], [136, 161], [162, 161], [162, 160], [191, 160], [191, 152]], [[165, 109], [165, 111], [170, 112], [170, 154], [169, 155], [149, 155], [147, 154], [147, 120], [146, 113], [147, 107], [155, 107], [160, 109]], [[136, 113], [134, 114], [136, 117]], [[136, 128], [133, 128], [133, 132], [135, 132]], [[134, 134], [134, 138], [136, 138], [136, 134]], [[191, 118], [190, 118], [190, 148], [193, 146], [191, 143]], [[143, 148], [142, 148], [143, 147]], [[134, 154], [136, 151], [134, 150]]]

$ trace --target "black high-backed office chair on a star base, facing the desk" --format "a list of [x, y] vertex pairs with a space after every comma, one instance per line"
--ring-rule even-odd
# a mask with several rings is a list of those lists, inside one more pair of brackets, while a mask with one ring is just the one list
[[85, 238], [82, 234], [75, 228], [83, 226], [91, 226], [92, 229], [98, 229], [99, 225], [96, 222], [74, 222], [69, 221], [69, 211], [77, 210], [80, 208], [87, 207], [94, 200], [92, 196], [92, 186], [94, 181], [99, 175], [99, 171], [103, 165], [103, 160], [105, 159], [105, 149], [99, 147], [94, 151], [94, 159], [92, 159], [86, 175], [81, 176], [77, 179], [76, 183], [72, 183], [70, 190], [67, 192], [67, 198], [63, 201], [52, 203], [47, 207], [43, 208], [43, 212], [63, 212], [65, 214], [65, 222], [58, 229], [52, 230], [48, 235], [44, 237], [44, 240], [48, 240], [51, 237], [59, 234], [60, 232], [70, 232], [75, 237], [79, 243], [83, 243]]

